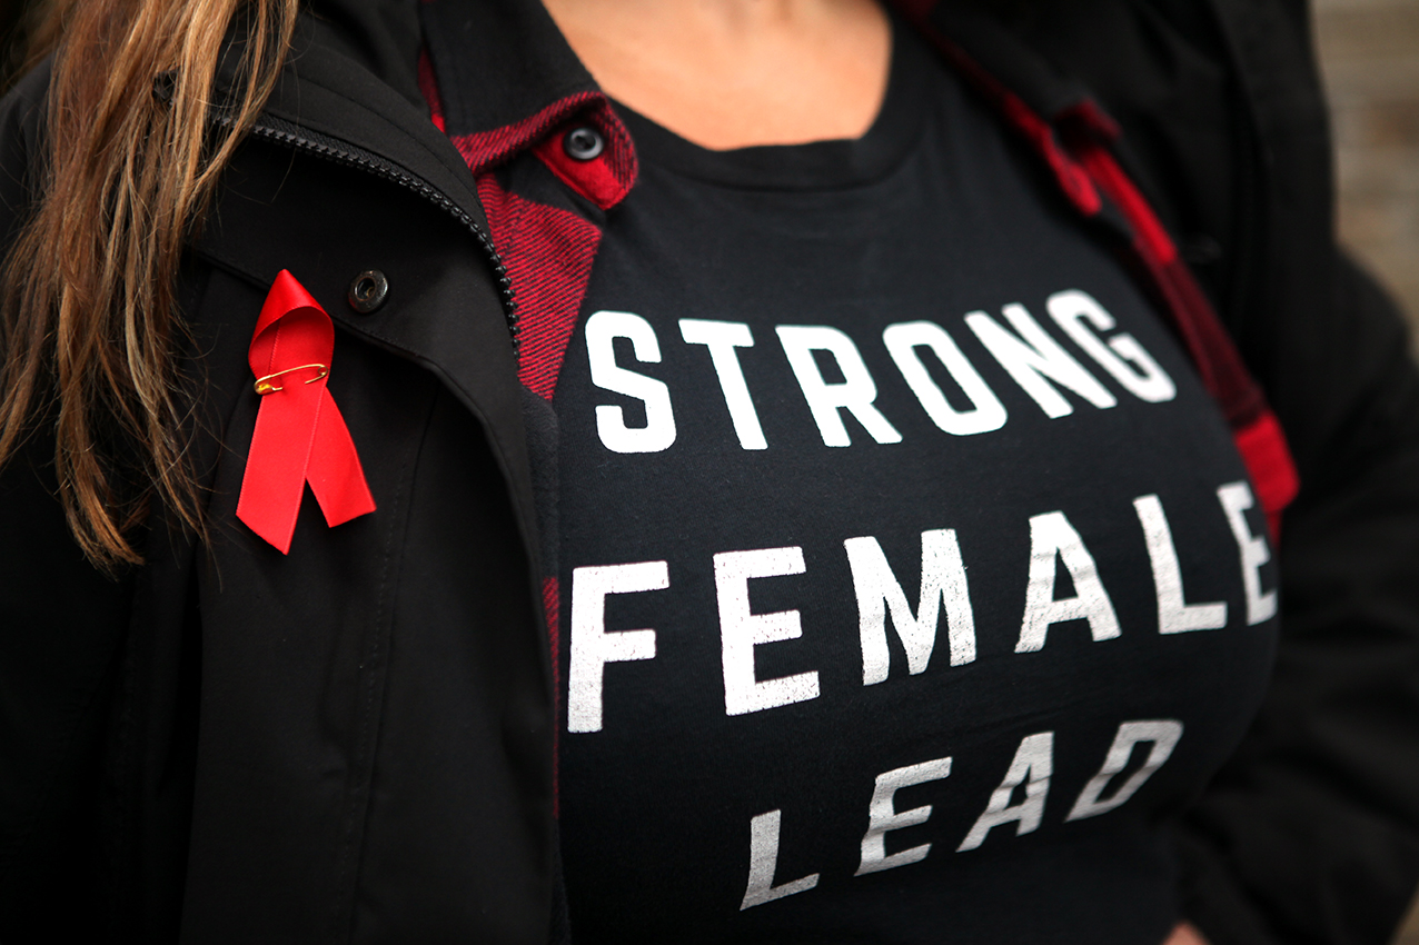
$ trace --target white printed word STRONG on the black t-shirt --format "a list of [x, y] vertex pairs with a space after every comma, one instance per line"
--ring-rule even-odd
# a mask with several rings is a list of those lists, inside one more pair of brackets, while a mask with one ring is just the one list
[[[1176, 386], [1158, 362], [1132, 335], [1115, 331], [1114, 316], [1091, 295], [1078, 289], [1056, 292], [1049, 297], [1046, 308], [1064, 336], [1103, 368], [1124, 392], [1144, 403], [1162, 403], [1176, 396]], [[1023, 305], [1012, 302], [1002, 306], [1000, 314], [1006, 324], [985, 312], [971, 312], [962, 322], [979, 342], [979, 348], [1039, 404], [1046, 417], [1059, 419], [1074, 413], [1074, 404], [1064, 392], [1100, 410], [1118, 404], [1118, 397]], [[783, 359], [797, 380], [823, 446], [851, 446], [851, 434], [843, 423], [844, 413], [861, 424], [876, 443], [902, 441], [902, 434], [877, 406], [877, 380], [857, 342], [847, 332], [830, 325], [775, 325], [773, 333], [778, 335]], [[964, 332], [958, 333], [965, 336]], [[596, 430], [602, 446], [613, 453], [668, 450], [677, 434], [670, 387], [629, 365], [616, 363], [617, 338], [630, 342], [630, 353], [637, 363], [661, 362], [656, 329], [640, 315], [603, 309], [587, 319], [586, 353], [590, 359], [592, 383], [602, 390], [639, 400], [646, 411], [646, 426], [630, 427], [620, 406], [597, 406]], [[769, 448], [749, 393], [749, 382], [739, 363], [739, 350], [755, 346], [749, 325], [684, 318], [680, 319], [680, 338], [685, 345], [704, 346], [708, 352], [739, 447]], [[944, 326], [928, 321], [888, 325], [883, 329], [881, 345], [922, 411], [941, 431], [965, 437], [1005, 426], [1005, 404]], [[841, 380], [824, 376], [820, 369], [824, 362], [819, 356], [833, 362], [833, 373], [840, 375]], [[969, 406], [956, 409], [946, 400], [924, 358], [945, 369], [954, 386], [959, 387], [958, 396]]]

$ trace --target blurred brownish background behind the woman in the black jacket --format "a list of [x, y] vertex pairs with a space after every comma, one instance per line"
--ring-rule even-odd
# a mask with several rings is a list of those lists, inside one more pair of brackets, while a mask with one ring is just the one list
[[[1313, 4], [1334, 116], [1340, 237], [1419, 329], [1419, 0]], [[0, 82], [17, 64], [13, 45], [31, 6], [0, 0]], [[1419, 900], [1415, 907], [1395, 945], [1419, 945]]]

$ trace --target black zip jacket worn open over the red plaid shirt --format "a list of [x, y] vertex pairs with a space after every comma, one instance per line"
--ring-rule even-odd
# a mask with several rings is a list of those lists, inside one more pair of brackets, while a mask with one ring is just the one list
[[[538, 4], [467, 3], [468, 121], [595, 92]], [[1378, 945], [1419, 881], [1419, 376], [1334, 243], [1307, 10], [986, 6], [932, 21], [1047, 119], [1091, 94], [1118, 121], [1301, 478], [1270, 695], [1176, 827], [1185, 914], [1215, 945]], [[210, 545], [158, 509], [148, 563], [111, 580], [65, 531], [43, 429], [0, 477], [0, 941], [566, 935], [535, 461], [555, 427], [420, 44], [416, 0], [312, 3], [187, 257]], [[45, 82], [0, 112], [11, 234]], [[331, 390], [379, 504], [331, 529], [307, 499], [289, 556], [234, 516], [282, 268], [335, 319]], [[372, 314], [346, 302], [366, 270], [389, 281]]]

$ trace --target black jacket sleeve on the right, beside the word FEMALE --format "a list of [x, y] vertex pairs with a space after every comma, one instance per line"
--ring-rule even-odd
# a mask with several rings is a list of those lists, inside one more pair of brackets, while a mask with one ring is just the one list
[[1287, 424], [1303, 491], [1274, 678], [1178, 831], [1183, 911], [1213, 945], [1384, 945], [1419, 883], [1419, 372], [1340, 254], [1324, 316], [1287, 368], [1332, 409]]

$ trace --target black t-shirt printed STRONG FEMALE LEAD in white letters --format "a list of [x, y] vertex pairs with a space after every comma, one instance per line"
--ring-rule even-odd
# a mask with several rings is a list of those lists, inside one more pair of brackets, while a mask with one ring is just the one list
[[907, 30], [858, 140], [624, 118], [553, 399], [576, 941], [1156, 945], [1276, 610], [1169, 331]]

